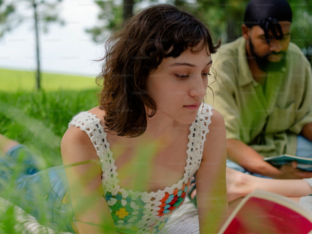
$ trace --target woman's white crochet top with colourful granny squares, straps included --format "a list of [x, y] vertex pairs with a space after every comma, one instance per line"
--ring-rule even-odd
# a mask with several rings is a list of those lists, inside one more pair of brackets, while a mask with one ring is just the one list
[[196, 120], [190, 126], [186, 166], [183, 178], [171, 187], [157, 192], [139, 192], [120, 188], [117, 167], [106, 132], [100, 119], [89, 112], [80, 112], [73, 117], [69, 126], [85, 131], [102, 167], [102, 185], [115, 226], [124, 233], [163, 233], [163, 226], [171, 212], [184, 201], [190, 178], [195, 174], [202, 160], [203, 145], [211, 123], [212, 107], [202, 103]]

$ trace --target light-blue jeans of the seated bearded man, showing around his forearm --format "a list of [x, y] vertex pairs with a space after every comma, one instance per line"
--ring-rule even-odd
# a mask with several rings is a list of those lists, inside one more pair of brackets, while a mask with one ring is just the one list
[[[298, 137], [297, 137], [296, 156], [305, 157], [305, 158], [312, 158], [312, 142], [310, 140], [304, 138], [301, 135], [298, 135]], [[227, 167], [235, 169], [236, 171], [240, 171], [240, 172], [247, 173], [250, 175], [254, 175], [257, 177], [271, 178], [271, 177], [266, 177], [266, 176], [259, 175], [256, 173], [250, 173], [245, 168], [241, 167], [240, 165], [238, 165], [237, 163], [234, 163], [233, 161], [231, 161], [229, 159], [227, 159]]]

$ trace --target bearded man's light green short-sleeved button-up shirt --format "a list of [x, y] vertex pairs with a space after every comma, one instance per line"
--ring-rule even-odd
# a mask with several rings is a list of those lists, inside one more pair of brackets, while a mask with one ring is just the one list
[[223, 115], [227, 139], [240, 140], [264, 157], [295, 155], [297, 135], [312, 122], [311, 65], [290, 42], [286, 66], [267, 73], [263, 87], [253, 79], [245, 44], [240, 37], [212, 55], [218, 82], [210, 85], [214, 100], [208, 91], [206, 102]]

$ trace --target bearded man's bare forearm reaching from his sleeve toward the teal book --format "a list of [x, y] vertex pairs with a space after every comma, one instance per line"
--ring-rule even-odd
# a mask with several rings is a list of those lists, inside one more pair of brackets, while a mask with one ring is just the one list
[[273, 178], [278, 178], [281, 174], [279, 169], [264, 161], [254, 149], [236, 139], [227, 140], [227, 157], [251, 173]]

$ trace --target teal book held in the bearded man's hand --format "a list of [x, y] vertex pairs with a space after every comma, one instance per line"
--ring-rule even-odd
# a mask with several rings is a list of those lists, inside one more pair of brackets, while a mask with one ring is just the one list
[[280, 167], [282, 165], [290, 163], [291, 161], [297, 161], [298, 162], [297, 168], [301, 170], [312, 171], [312, 158], [303, 158], [294, 155], [283, 154], [264, 158], [264, 160], [275, 167]]

